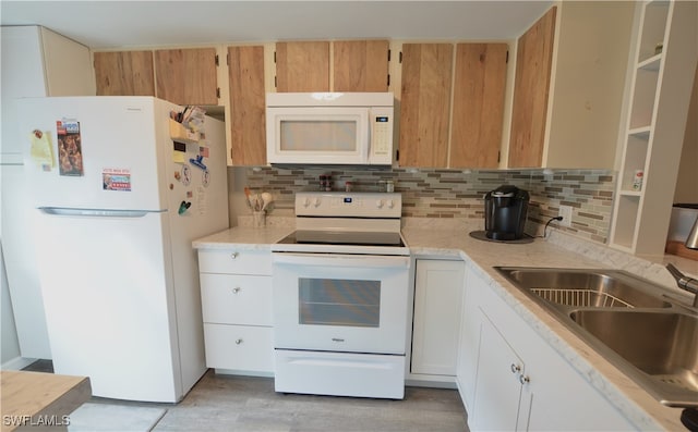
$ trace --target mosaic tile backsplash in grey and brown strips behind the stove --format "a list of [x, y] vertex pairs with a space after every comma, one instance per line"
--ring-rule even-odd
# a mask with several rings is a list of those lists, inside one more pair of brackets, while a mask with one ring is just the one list
[[354, 192], [383, 192], [386, 181], [393, 181], [395, 192], [402, 194], [404, 218], [482, 220], [484, 194], [504, 184], [515, 185], [531, 196], [529, 224], [545, 224], [557, 215], [558, 206], [571, 206], [573, 225], [562, 230], [600, 243], [605, 243], [609, 236], [615, 187], [614, 172], [605, 170], [565, 170], [553, 174], [544, 174], [540, 169], [353, 171], [265, 166], [236, 170], [244, 170], [246, 181], [246, 184], [236, 185], [238, 188], [249, 186], [274, 195], [270, 217], [292, 217], [293, 194], [320, 190], [321, 174], [332, 174], [334, 190], [345, 190], [346, 182], [351, 182]]

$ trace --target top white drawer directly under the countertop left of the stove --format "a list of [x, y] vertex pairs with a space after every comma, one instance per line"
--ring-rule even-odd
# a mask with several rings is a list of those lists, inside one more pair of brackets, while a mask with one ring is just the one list
[[258, 250], [200, 250], [198, 270], [204, 273], [272, 274], [272, 252]]

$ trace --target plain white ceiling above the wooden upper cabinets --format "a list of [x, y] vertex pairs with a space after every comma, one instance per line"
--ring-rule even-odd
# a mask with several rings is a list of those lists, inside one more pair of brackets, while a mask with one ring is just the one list
[[93, 49], [312, 39], [514, 39], [552, 4], [489, 1], [0, 1]]

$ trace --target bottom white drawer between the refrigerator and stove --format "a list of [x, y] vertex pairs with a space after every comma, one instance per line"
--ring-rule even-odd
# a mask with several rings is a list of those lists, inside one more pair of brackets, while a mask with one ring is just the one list
[[272, 328], [204, 324], [206, 366], [251, 372], [274, 372]]

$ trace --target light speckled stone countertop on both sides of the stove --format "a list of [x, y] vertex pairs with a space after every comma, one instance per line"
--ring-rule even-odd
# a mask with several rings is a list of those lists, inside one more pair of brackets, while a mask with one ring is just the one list
[[[269, 250], [292, 227], [232, 227], [193, 242], [196, 249]], [[458, 235], [458, 232], [461, 234]], [[619, 269], [649, 279], [688, 299], [674, 288], [663, 266], [645, 261], [603, 245], [553, 231], [530, 244], [501, 244], [472, 238], [461, 230], [405, 227], [412, 257], [462, 259], [478, 273], [582, 378], [604, 395], [638, 430], [685, 430], [681, 408], [670, 408], [639, 387], [603, 356], [559, 323], [550, 312], [526, 297], [500, 275], [494, 266]], [[663, 274], [665, 273], [665, 274]], [[688, 301], [688, 300], [687, 300]]]

